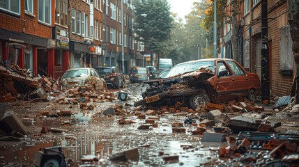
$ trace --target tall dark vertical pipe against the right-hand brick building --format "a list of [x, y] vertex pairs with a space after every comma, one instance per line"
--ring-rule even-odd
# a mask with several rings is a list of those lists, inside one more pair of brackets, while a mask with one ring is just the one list
[[268, 47], [268, 2], [261, 0], [261, 102], [270, 102]]

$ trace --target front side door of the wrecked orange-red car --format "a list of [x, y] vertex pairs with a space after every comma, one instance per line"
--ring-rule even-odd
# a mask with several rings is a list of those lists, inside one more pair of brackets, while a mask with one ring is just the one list
[[217, 61], [215, 74], [217, 99], [221, 102], [233, 100], [236, 97], [232, 91], [236, 79], [225, 61]]

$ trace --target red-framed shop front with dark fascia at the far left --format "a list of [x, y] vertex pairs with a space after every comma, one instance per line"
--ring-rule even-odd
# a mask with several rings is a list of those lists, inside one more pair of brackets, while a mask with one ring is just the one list
[[[31, 76], [38, 74], [39, 51], [47, 52], [47, 38], [0, 29], [0, 61], [17, 65]], [[43, 65], [47, 72], [47, 65]]]

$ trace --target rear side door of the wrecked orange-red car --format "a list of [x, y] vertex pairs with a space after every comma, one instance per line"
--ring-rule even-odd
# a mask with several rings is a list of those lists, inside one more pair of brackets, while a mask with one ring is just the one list
[[246, 76], [245, 71], [235, 61], [226, 61], [231, 71], [233, 72], [234, 87], [232, 92], [236, 95], [247, 95], [249, 91], [249, 77]]

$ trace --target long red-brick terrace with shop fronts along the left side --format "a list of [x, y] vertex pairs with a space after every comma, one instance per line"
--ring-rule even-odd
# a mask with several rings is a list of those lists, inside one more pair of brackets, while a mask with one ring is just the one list
[[128, 73], [135, 62], [133, 55], [139, 53], [135, 48], [141, 44], [132, 37], [133, 6], [128, 0], [123, 0], [123, 10], [121, 0], [14, 2], [0, 2], [0, 60], [4, 63], [58, 79], [69, 68], [107, 65], [121, 69], [122, 62]]

